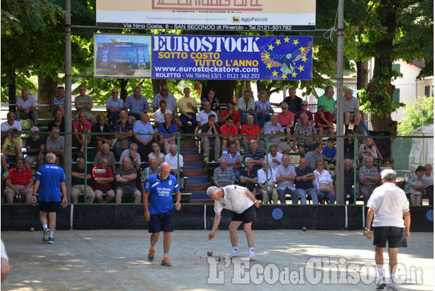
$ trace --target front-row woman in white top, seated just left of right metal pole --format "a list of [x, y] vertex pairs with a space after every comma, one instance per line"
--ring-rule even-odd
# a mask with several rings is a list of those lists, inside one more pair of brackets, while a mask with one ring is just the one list
[[332, 177], [330, 172], [323, 167], [323, 159], [316, 160], [316, 170], [314, 170], [314, 176], [316, 177], [312, 182], [314, 189], [316, 189], [317, 200], [319, 203], [324, 203], [325, 196], [330, 201], [330, 204], [335, 203], [334, 186], [332, 185]]

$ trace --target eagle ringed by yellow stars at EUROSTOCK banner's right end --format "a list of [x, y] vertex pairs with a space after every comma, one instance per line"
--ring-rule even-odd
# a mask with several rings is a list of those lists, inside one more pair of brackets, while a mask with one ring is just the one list
[[[282, 45], [282, 40], [284, 40], [284, 45], [286, 42], [288, 45]], [[261, 52], [261, 60], [266, 65], [266, 68], [269, 70], [273, 70], [271, 72], [272, 78], [279, 77], [284, 79], [311, 79], [311, 60], [312, 55], [309, 53], [312, 49], [312, 41], [306, 43], [306, 45], [299, 45], [299, 39], [294, 38], [293, 43], [290, 43], [290, 38], [286, 36], [286, 38], [276, 39], [271, 45], [267, 45], [267, 49], [263, 49]], [[275, 52], [272, 51], [275, 49]], [[279, 54], [284, 52], [284, 54]], [[308, 58], [307, 58], [308, 55]], [[307, 60], [309, 64], [307, 64]], [[299, 62], [298, 62], [299, 61]], [[309, 65], [310, 68], [307, 70], [304, 68], [306, 65]], [[275, 68], [279, 68], [277, 71]], [[302, 73], [303, 72], [303, 73]], [[280, 75], [279, 75], [280, 74]], [[298, 76], [299, 75], [299, 76]]]

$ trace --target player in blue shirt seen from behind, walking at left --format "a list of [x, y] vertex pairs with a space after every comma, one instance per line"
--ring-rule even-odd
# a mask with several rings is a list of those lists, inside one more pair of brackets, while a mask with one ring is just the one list
[[[62, 207], [66, 207], [66, 185], [64, 169], [55, 164], [54, 153], [47, 153], [44, 164], [38, 168], [34, 181], [32, 204], [36, 205], [36, 191], [39, 190], [39, 220], [44, 227], [42, 242], [54, 244], [53, 232], [56, 227], [56, 212], [60, 210], [59, 202], [62, 199]], [[62, 190], [62, 195], [60, 191]], [[47, 213], [49, 214], [49, 227], [47, 226]], [[48, 238], [47, 238], [48, 236]]]

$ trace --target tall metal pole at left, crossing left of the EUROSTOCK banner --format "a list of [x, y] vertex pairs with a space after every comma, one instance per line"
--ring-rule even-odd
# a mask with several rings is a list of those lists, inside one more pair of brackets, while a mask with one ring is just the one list
[[[71, 132], [71, 3], [65, 0], [65, 131]], [[66, 192], [71, 203], [71, 134], [65, 135], [64, 170], [66, 175]], [[86, 161], [85, 161], [86, 164]], [[86, 179], [86, 177], [85, 177]], [[86, 195], [86, 189], [85, 189]]]

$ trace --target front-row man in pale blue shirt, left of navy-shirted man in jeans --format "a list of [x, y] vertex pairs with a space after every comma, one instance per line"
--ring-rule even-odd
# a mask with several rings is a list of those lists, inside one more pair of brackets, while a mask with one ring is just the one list
[[[286, 204], [286, 194], [290, 194], [292, 197], [292, 204], [297, 204], [299, 197], [299, 193], [294, 185], [296, 179], [295, 167], [290, 165], [289, 162], [290, 157], [285, 153], [282, 156], [282, 164], [277, 166], [275, 173], [277, 181], [276, 189], [281, 204]], [[301, 203], [303, 201], [306, 202], [306, 197], [301, 196]]]

